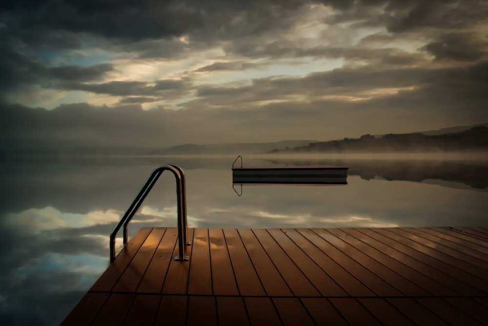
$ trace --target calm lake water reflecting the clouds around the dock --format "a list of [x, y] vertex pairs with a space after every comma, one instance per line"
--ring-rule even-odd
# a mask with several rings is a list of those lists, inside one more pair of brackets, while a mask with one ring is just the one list
[[[485, 160], [245, 159], [245, 165], [348, 166], [347, 185], [232, 188], [227, 158], [0, 162], [0, 324], [56, 325], [108, 265], [108, 236], [151, 171], [180, 165], [190, 227], [488, 225]], [[240, 187], [237, 188], [240, 192]], [[163, 174], [129, 224], [176, 226]]]

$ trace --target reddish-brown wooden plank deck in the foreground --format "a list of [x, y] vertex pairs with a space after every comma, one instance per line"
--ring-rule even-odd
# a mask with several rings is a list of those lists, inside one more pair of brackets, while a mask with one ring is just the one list
[[488, 228], [145, 228], [63, 325], [488, 325]]

